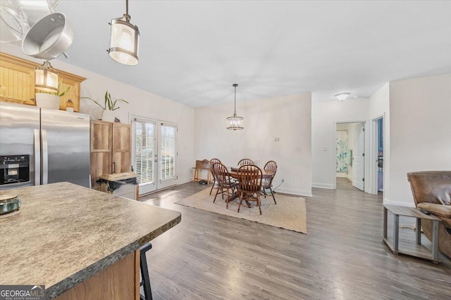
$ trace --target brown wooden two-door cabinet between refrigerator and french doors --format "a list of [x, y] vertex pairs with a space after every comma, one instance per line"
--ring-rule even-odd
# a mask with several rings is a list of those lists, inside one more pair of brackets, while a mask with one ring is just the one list
[[103, 174], [131, 171], [131, 125], [91, 121], [91, 186]]

